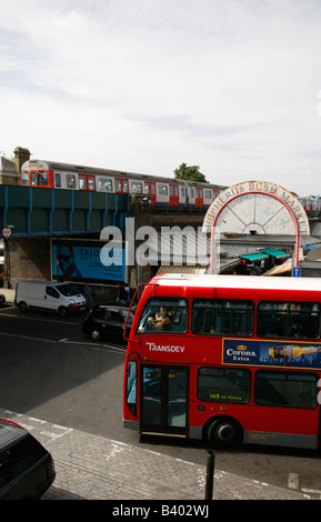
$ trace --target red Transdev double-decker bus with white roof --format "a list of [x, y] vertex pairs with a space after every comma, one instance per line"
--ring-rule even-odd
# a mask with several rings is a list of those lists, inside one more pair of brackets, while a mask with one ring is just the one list
[[320, 309], [318, 279], [156, 277], [128, 340], [123, 425], [320, 448]]

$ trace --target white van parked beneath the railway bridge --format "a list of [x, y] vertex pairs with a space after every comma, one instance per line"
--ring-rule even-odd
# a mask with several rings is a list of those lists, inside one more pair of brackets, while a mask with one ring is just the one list
[[19, 281], [14, 303], [22, 312], [28, 309], [51, 310], [60, 317], [86, 310], [84, 297], [72, 284], [53, 281]]

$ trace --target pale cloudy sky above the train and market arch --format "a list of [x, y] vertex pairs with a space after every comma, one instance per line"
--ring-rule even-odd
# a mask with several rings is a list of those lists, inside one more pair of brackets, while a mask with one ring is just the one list
[[0, 155], [321, 194], [321, 0], [0, 0]]

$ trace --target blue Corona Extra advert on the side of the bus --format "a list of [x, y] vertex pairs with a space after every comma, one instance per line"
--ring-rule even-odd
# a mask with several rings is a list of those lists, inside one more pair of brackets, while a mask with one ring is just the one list
[[223, 364], [320, 369], [321, 344], [224, 339]]

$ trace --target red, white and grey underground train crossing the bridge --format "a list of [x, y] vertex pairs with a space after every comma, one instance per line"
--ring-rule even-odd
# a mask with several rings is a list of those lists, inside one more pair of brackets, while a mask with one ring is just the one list
[[130, 194], [153, 207], [202, 209], [227, 187], [53, 161], [22, 164], [20, 185]]

